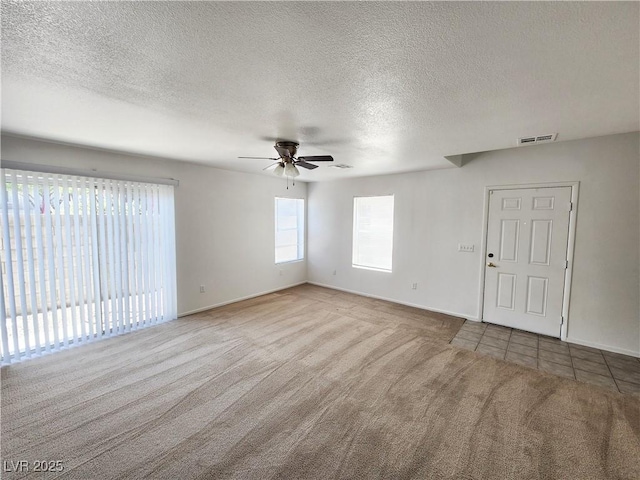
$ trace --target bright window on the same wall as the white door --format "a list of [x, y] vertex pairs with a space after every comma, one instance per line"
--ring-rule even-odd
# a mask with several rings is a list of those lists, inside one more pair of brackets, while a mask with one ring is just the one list
[[353, 199], [353, 266], [391, 271], [393, 195]]

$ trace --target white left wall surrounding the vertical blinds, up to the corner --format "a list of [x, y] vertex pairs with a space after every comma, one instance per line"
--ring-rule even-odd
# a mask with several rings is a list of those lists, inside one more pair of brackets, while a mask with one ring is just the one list
[[303, 182], [287, 190], [275, 177], [9, 135], [2, 136], [2, 160], [180, 180], [175, 190], [180, 314], [306, 280], [306, 261], [274, 263], [274, 197], [306, 198]]

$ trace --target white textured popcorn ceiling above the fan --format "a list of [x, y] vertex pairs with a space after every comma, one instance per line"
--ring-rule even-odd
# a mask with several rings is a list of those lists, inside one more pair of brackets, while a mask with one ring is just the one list
[[310, 181], [451, 167], [640, 129], [639, 23], [637, 2], [3, 0], [2, 129], [256, 173], [236, 157], [279, 137], [354, 167]]

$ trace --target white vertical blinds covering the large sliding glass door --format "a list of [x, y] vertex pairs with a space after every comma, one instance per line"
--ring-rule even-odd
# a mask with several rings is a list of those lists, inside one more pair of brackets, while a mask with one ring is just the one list
[[0, 179], [3, 364], [177, 317], [173, 186]]

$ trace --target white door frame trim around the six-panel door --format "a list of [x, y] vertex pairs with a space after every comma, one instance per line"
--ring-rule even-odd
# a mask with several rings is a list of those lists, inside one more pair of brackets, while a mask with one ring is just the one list
[[571, 297], [571, 278], [573, 275], [573, 256], [576, 240], [576, 220], [578, 217], [578, 192], [580, 182], [549, 182], [549, 183], [523, 183], [513, 185], [488, 185], [484, 188], [484, 210], [482, 217], [482, 240], [480, 243], [480, 290], [478, 292], [478, 320], [484, 322], [484, 288], [487, 257], [487, 234], [489, 232], [489, 199], [491, 192], [496, 190], [519, 190], [525, 188], [571, 188], [572, 208], [569, 212], [569, 237], [567, 240], [567, 260], [569, 262], [564, 273], [564, 293], [562, 296], [562, 325], [560, 327], [560, 340], [566, 341], [569, 330], [569, 300]]

